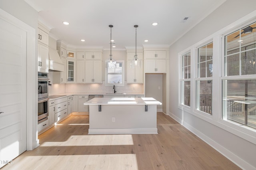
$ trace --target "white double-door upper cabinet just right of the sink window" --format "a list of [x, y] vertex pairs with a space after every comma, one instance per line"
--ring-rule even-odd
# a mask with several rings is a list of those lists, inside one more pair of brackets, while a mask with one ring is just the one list
[[143, 60], [140, 66], [131, 67], [131, 60], [127, 61], [127, 83], [143, 83]]

